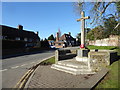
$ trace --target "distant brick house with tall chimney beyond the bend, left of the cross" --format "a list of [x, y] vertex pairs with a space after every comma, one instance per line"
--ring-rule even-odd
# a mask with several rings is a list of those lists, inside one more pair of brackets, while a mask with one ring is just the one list
[[61, 37], [59, 37], [59, 32], [57, 32], [56, 41], [54, 42], [56, 48], [74, 46], [75, 44], [76, 40], [71, 36], [70, 32], [68, 34], [63, 34]]

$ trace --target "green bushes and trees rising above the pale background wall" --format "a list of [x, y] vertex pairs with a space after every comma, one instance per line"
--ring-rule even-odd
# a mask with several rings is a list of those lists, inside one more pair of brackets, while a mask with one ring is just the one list
[[87, 33], [87, 39], [97, 40], [108, 38], [109, 35], [120, 35], [120, 25], [116, 27], [118, 21], [114, 17], [104, 19], [104, 26], [97, 26]]

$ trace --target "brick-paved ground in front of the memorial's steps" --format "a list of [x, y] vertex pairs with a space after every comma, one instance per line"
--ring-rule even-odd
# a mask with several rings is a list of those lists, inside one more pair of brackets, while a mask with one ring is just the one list
[[93, 88], [108, 72], [103, 69], [96, 74], [72, 75], [40, 65], [28, 80], [25, 88]]

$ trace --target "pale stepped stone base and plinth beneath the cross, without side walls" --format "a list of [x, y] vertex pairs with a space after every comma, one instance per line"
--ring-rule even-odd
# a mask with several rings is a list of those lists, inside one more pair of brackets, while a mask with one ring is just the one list
[[90, 59], [88, 58], [88, 49], [77, 50], [77, 56], [73, 59], [58, 61], [51, 68], [67, 72], [73, 75], [94, 74], [90, 67]]

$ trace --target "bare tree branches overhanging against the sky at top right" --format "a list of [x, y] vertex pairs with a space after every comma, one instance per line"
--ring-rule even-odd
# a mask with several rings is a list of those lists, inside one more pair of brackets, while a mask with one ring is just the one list
[[[113, 5], [114, 4], [114, 5]], [[108, 7], [116, 6], [116, 9], [113, 8], [114, 13], [106, 14]], [[101, 24], [105, 18], [115, 17], [118, 21], [120, 19], [120, 1], [119, 2], [77, 2], [75, 3], [75, 9], [79, 11], [89, 10], [91, 14], [91, 24]], [[87, 10], [87, 11], [88, 11]]]

